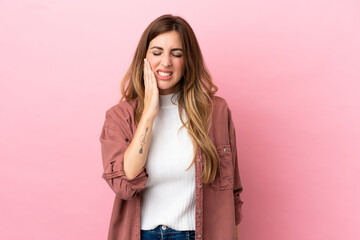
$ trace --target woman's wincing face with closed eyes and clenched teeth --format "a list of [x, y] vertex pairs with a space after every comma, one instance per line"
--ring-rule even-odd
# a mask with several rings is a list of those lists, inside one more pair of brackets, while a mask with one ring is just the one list
[[184, 73], [184, 57], [180, 34], [166, 32], [154, 38], [146, 52], [152, 71], [155, 74], [159, 94], [174, 92], [174, 86]]

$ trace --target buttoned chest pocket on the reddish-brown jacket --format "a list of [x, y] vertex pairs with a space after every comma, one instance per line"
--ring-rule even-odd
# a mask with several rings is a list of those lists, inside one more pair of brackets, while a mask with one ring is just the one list
[[234, 166], [232, 162], [231, 147], [229, 144], [218, 145], [219, 164], [215, 180], [210, 183], [213, 190], [227, 190], [234, 188]]

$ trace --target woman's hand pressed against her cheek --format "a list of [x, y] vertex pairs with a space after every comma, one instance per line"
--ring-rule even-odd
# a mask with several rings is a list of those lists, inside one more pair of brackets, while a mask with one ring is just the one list
[[151, 69], [150, 63], [144, 58], [144, 85], [145, 85], [145, 99], [144, 112], [150, 118], [156, 117], [159, 112], [159, 89], [156, 82], [156, 77]]

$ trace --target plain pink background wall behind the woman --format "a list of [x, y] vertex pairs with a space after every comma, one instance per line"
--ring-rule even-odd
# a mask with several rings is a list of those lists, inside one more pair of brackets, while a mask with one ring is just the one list
[[0, 1], [0, 239], [106, 238], [105, 111], [164, 13], [232, 109], [241, 239], [360, 239], [360, 2], [126, 2]]

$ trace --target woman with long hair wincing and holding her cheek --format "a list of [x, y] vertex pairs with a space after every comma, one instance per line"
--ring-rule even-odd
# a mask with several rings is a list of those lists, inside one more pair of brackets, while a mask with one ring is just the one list
[[235, 129], [190, 25], [163, 15], [141, 36], [100, 136], [116, 197], [108, 239], [237, 239]]

